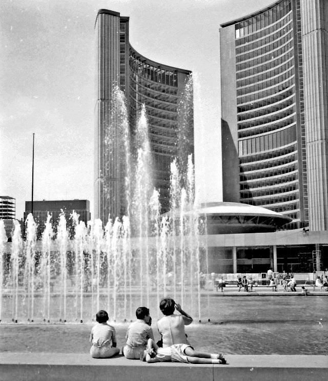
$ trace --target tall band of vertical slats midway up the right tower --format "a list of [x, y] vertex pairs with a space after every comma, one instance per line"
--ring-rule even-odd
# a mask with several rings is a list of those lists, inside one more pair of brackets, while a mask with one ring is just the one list
[[238, 141], [239, 155], [250, 155], [268, 151], [295, 142], [296, 126], [272, 134], [251, 137]]

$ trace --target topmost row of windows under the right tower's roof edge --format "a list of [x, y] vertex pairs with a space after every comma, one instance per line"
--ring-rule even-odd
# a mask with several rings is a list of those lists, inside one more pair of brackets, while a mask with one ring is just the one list
[[[275, 7], [268, 9], [267, 11], [258, 14], [254, 17], [250, 17], [249, 19], [242, 21], [241, 23], [235, 24], [235, 37], [240, 38], [243, 36], [247, 36], [248, 34], [252, 34], [257, 30], [266, 28], [266, 27], [276, 27], [277, 24], [280, 24], [281, 19], [286, 18], [285, 16], [292, 10], [291, 0], [285, 0]], [[276, 25], [272, 26], [272, 24], [279, 21]], [[268, 30], [265, 30], [268, 34]], [[269, 32], [270, 33], [270, 32]]]

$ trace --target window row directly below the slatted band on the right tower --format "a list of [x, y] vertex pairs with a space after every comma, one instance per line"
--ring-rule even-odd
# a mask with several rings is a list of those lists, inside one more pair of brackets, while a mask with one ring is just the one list
[[271, 151], [268, 153], [259, 153], [253, 156], [240, 157], [239, 163], [242, 166], [240, 172], [258, 171], [291, 163], [297, 159], [297, 146], [292, 144], [288, 147], [283, 147], [280, 150]]

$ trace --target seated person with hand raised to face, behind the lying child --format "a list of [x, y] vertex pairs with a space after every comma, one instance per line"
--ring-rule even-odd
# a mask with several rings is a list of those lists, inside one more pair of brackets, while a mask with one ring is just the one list
[[[193, 318], [183, 311], [179, 304], [172, 298], [163, 298], [159, 303], [159, 309], [164, 315], [157, 322], [158, 332], [162, 337], [163, 348], [173, 344], [190, 345], [186, 336], [185, 326], [193, 322]], [[177, 310], [180, 314], [175, 314]]]

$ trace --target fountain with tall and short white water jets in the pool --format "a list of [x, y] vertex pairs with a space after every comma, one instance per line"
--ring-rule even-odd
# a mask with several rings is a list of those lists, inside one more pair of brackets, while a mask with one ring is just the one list
[[[113, 99], [111, 121], [119, 124], [126, 141], [127, 111], [117, 87]], [[184, 108], [188, 109], [184, 105], [180, 110]], [[83, 323], [91, 321], [97, 310], [106, 309], [112, 320], [125, 322], [134, 318], [139, 305], [149, 306], [153, 316], [159, 317], [159, 300], [164, 296], [188, 305], [201, 320], [200, 274], [206, 272], [206, 250], [198, 238], [203, 227], [195, 212], [192, 156], [185, 152], [180, 162], [171, 163], [171, 210], [161, 215], [159, 192], [152, 185], [148, 130], [142, 106], [134, 137], [135, 157], [128, 144], [122, 148], [127, 215], [121, 219], [109, 218], [105, 227], [100, 219], [85, 226], [73, 212], [73, 231], [69, 232], [63, 213], [55, 234], [49, 215], [42, 239], [37, 240], [37, 226], [29, 214], [26, 240], [17, 223], [8, 256], [9, 244], [4, 244], [0, 224], [0, 266], [5, 270], [0, 275], [3, 321]], [[111, 138], [110, 133], [106, 138]], [[179, 139], [182, 154], [186, 137], [181, 134]], [[183, 161], [188, 163], [184, 172]], [[4, 258], [9, 258], [7, 267]]]

